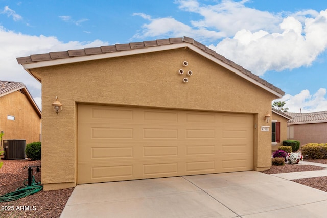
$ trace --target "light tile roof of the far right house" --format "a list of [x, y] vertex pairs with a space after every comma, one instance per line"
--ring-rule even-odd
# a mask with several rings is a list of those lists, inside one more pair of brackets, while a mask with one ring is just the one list
[[327, 123], [327, 111], [319, 111], [313, 113], [287, 113], [293, 119], [288, 123], [293, 124], [311, 124], [311, 123]]

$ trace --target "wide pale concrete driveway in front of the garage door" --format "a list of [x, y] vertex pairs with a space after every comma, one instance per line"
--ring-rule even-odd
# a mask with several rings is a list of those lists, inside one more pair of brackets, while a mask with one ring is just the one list
[[327, 193], [255, 171], [78, 185], [60, 217], [326, 217]]

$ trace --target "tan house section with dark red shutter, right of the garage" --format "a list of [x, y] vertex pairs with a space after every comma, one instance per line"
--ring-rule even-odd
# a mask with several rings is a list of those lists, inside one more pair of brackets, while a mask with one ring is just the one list
[[287, 125], [292, 117], [274, 108], [271, 111], [271, 151], [274, 152], [288, 139]]

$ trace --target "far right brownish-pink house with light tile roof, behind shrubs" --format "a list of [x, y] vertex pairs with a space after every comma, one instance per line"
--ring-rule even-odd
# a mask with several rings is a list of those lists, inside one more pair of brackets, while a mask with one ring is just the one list
[[288, 122], [288, 139], [308, 143], [327, 143], [327, 111], [313, 113], [287, 113], [293, 119]]

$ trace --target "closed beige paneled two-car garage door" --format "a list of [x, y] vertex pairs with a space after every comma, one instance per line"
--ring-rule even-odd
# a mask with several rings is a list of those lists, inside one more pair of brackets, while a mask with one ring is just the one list
[[78, 105], [78, 184], [253, 169], [253, 115]]

